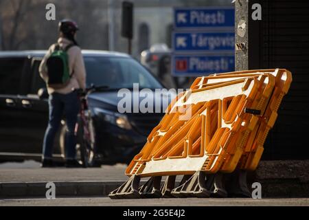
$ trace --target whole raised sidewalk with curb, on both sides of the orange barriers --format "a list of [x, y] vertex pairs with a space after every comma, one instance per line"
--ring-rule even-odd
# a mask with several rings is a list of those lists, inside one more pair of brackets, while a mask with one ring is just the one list
[[[128, 179], [125, 168], [124, 164], [70, 169], [0, 166], [0, 197], [45, 197], [49, 181], [56, 184], [58, 197], [107, 196]], [[263, 197], [309, 197], [308, 168], [308, 160], [260, 162], [255, 173], [248, 175], [249, 186], [260, 182]]]

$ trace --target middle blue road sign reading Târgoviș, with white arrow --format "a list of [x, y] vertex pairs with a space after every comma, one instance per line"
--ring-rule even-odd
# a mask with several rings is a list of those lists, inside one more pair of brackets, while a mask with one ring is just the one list
[[235, 34], [205, 32], [174, 32], [174, 52], [234, 52]]

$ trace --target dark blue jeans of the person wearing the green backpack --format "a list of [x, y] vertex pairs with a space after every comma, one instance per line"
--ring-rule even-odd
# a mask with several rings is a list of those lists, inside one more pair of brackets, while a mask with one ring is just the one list
[[43, 141], [43, 158], [51, 159], [54, 140], [59, 129], [62, 115], [65, 113], [67, 122], [67, 135], [65, 138], [66, 159], [76, 158], [76, 136], [74, 134], [77, 122], [80, 100], [75, 91], [70, 94], [53, 93], [49, 95], [49, 122]]

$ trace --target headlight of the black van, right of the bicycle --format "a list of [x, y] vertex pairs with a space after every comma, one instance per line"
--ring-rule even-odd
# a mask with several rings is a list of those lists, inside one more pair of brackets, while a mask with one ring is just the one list
[[113, 111], [107, 111], [105, 109], [101, 109], [98, 107], [93, 108], [93, 112], [95, 113], [95, 115], [102, 116], [106, 122], [115, 124], [119, 126], [119, 128], [127, 129], [127, 130], [132, 129], [132, 126], [130, 122], [128, 121], [128, 118], [126, 117], [126, 115], [115, 113]]

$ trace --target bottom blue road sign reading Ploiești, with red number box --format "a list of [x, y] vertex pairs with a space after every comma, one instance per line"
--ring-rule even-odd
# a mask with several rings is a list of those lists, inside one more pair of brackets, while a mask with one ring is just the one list
[[172, 74], [174, 76], [206, 76], [209, 74], [233, 72], [233, 55], [172, 55]]

